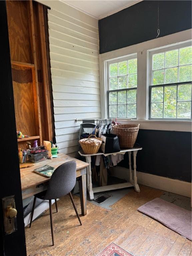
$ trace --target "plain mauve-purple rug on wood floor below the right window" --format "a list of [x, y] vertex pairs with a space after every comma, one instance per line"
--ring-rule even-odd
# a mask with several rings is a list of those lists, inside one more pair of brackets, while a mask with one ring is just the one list
[[158, 220], [166, 227], [191, 240], [191, 211], [160, 198], [155, 198], [137, 210]]

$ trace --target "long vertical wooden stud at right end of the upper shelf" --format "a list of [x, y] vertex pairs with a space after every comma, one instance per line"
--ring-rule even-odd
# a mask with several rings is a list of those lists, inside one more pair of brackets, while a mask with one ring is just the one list
[[33, 3], [32, 0], [27, 1], [28, 4], [28, 25], [29, 25], [29, 37], [32, 52], [32, 59], [34, 68], [32, 68], [33, 77], [33, 91], [34, 91], [34, 107], [35, 107], [35, 119], [37, 130], [39, 130], [40, 144], [42, 145], [42, 131], [41, 131], [41, 113], [39, 103], [39, 87], [38, 87], [38, 76], [37, 76], [37, 57], [36, 57], [36, 46], [35, 46], [35, 29], [34, 29], [34, 18], [33, 18]]

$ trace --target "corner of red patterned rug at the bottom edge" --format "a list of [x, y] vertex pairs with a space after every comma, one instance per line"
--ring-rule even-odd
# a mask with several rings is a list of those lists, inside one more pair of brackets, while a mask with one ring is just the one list
[[126, 252], [118, 245], [111, 243], [97, 256], [133, 256], [133, 255]]

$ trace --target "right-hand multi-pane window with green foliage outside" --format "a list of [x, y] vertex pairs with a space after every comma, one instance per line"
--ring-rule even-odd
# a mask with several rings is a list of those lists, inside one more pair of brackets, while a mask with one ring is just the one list
[[150, 51], [149, 119], [191, 120], [192, 47]]

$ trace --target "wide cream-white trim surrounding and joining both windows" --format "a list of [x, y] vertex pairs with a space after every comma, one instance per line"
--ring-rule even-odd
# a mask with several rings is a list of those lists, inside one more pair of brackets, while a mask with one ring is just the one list
[[[171, 130], [191, 132], [191, 121], [178, 120], [148, 120], [149, 107], [149, 50], [172, 44], [183, 44], [191, 42], [192, 29], [181, 31], [168, 36], [156, 38], [150, 41], [131, 45], [115, 51], [99, 55], [100, 68], [100, 99], [101, 99], [101, 118], [107, 118], [107, 76], [105, 73], [107, 61], [116, 58], [126, 57], [137, 53], [137, 120], [127, 120], [123, 123], [140, 123], [141, 129], [151, 130]], [[182, 41], [182, 42], [181, 42]], [[178, 47], [178, 46], [177, 46]]]

